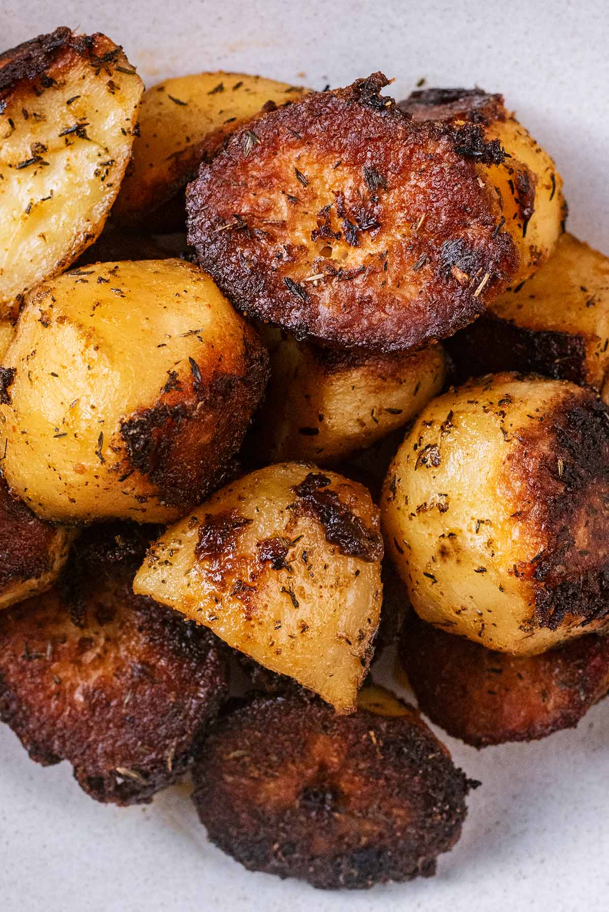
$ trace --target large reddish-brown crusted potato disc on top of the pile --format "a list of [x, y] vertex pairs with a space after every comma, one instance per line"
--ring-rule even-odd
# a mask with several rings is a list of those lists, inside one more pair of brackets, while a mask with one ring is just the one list
[[205, 271], [298, 337], [422, 347], [471, 322], [518, 267], [478, 182], [479, 163], [502, 161], [499, 142], [477, 124], [415, 123], [385, 85], [376, 73], [268, 113], [186, 192]]

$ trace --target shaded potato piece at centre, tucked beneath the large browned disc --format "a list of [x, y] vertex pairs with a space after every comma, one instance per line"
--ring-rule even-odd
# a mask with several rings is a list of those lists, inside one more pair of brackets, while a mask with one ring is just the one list
[[340, 352], [297, 342], [280, 330], [270, 351], [267, 396], [255, 446], [263, 461], [334, 464], [415, 418], [444, 386], [439, 346], [415, 354]]

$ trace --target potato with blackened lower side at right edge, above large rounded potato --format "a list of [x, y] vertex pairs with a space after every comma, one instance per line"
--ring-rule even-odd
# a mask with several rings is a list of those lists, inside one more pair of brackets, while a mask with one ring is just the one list
[[609, 399], [609, 258], [563, 234], [539, 273], [493, 301], [448, 342], [462, 379], [536, 371]]

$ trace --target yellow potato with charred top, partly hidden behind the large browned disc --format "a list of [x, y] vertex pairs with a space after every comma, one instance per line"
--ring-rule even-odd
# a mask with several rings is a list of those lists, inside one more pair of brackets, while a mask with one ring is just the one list
[[511, 285], [520, 285], [551, 256], [567, 217], [562, 177], [548, 153], [505, 109], [503, 96], [480, 88], [424, 88], [400, 107], [419, 123], [476, 124], [484, 140], [498, 141], [505, 150], [488, 177], [502, 201], [503, 224], [519, 247], [520, 267]]

